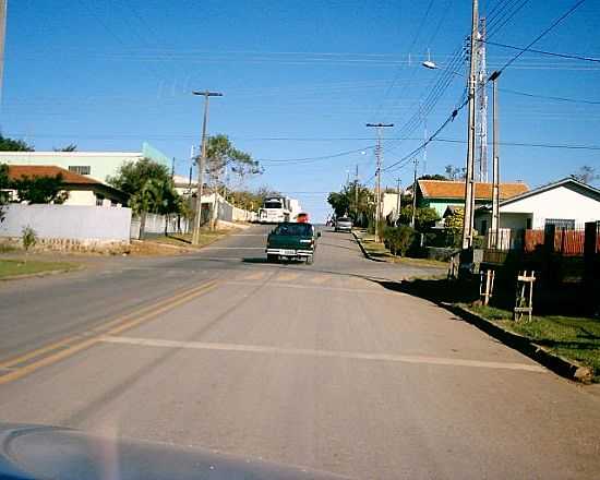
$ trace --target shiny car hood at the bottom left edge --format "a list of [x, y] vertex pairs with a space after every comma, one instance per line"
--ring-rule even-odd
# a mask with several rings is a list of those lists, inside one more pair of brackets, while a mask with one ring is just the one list
[[77, 430], [0, 423], [0, 480], [326, 480], [332, 473]]

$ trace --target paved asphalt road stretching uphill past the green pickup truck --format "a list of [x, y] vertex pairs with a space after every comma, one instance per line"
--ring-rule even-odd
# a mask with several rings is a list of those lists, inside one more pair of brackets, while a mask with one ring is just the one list
[[357, 479], [598, 478], [597, 389], [386, 288], [431, 272], [328, 231], [267, 264], [265, 232], [0, 284], [0, 419]]

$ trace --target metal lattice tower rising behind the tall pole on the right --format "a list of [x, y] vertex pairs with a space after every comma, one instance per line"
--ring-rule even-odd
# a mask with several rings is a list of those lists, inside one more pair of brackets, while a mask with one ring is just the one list
[[476, 49], [476, 143], [475, 143], [475, 179], [480, 182], [488, 182], [488, 94], [485, 82], [485, 19], [479, 20], [478, 39]]

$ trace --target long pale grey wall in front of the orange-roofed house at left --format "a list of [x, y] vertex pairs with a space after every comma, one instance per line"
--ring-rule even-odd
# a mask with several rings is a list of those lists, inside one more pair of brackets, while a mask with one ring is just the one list
[[129, 242], [130, 225], [130, 208], [11, 204], [0, 224], [0, 237], [21, 237], [28, 226], [40, 239]]

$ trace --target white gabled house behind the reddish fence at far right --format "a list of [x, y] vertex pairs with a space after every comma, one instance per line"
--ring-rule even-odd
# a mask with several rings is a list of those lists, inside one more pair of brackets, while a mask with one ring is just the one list
[[[485, 233], [491, 225], [491, 205], [475, 213], [475, 228]], [[567, 229], [584, 228], [600, 220], [600, 190], [565, 178], [500, 202], [500, 228], [512, 231], [543, 229], [553, 224]]]

